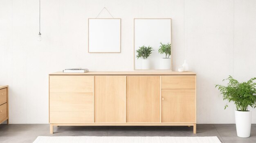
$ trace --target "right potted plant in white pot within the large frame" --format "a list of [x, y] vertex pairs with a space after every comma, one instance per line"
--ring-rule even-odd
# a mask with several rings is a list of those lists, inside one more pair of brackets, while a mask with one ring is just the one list
[[171, 44], [163, 44], [160, 42], [158, 53], [165, 54], [165, 58], [160, 59], [160, 69], [171, 69]]

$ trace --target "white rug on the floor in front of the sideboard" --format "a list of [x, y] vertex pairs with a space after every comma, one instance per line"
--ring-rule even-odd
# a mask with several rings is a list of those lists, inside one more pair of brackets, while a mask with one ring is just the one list
[[44, 137], [34, 143], [221, 143], [218, 137]]

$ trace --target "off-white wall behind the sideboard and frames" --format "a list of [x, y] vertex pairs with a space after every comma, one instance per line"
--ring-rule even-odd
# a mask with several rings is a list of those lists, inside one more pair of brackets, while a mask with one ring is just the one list
[[[198, 123], [234, 123], [215, 84], [256, 76], [255, 0], [0, 0], [0, 85], [10, 123], [48, 123], [48, 74], [64, 68], [133, 70], [133, 18], [172, 18], [173, 69], [186, 58], [197, 78]], [[88, 53], [88, 18], [121, 18], [121, 53]], [[100, 17], [109, 17], [106, 11]], [[253, 112], [256, 123], [256, 110]]]

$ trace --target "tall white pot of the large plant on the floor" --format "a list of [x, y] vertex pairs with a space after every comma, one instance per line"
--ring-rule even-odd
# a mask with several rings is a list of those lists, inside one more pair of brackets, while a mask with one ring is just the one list
[[247, 138], [251, 134], [252, 111], [235, 111], [236, 133], [238, 137]]

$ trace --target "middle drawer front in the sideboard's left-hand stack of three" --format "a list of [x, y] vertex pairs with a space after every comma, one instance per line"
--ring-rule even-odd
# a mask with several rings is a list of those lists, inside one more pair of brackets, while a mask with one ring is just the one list
[[93, 111], [93, 93], [50, 93], [50, 111]]

